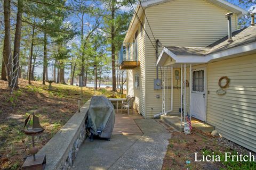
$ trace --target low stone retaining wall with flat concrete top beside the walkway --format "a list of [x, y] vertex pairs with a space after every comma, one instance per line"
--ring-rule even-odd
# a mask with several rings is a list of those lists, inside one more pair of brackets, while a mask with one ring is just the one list
[[77, 152], [86, 137], [85, 120], [91, 100], [80, 113], [75, 113], [54, 137], [39, 150], [38, 155], [46, 155], [45, 170], [68, 169], [73, 165]]

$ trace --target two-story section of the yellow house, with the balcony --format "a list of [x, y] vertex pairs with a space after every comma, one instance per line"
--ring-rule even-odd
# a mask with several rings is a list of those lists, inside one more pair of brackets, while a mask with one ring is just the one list
[[[156, 48], [160, 53], [164, 46], [206, 47], [228, 35], [225, 14], [234, 13], [231, 23], [235, 31], [238, 17], [247, 13], [222, 0], [150, 0], [143, 1], [135, 11], [119, 63], [121, 69], [127, 69], [127, 94], [136, 97], [134, 107], [145, 118], [162, 112]], [[161, 47], [156, 47], [157, 40]], [[161, 73], [158, 69], [158, 79], [163, 77]], [[180, 90], [173, 91], [173, 98], [177, 99], [174, 113], [179, 112], [179, 94]]]

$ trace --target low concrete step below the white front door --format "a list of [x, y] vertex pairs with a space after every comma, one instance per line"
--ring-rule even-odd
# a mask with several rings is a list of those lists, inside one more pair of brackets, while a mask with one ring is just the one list
[[[161, 119], [165, 123], [173, 126], [173, 128], [177, 129], [180, 132], [182, 132], [184, 129], [183, 122], [182, 122], [182, 125], [180, 125], [180, 116], [178, 115], [166, 115], [166, 116], [161, 115]], [[192, 124], [192, 128], [199, 129], [203, 132], [212, 132], [215, 129], [214, 126], [207, 124], [205, 122], [199, 121], [196, 118], [192, 118], [191, 124]]]

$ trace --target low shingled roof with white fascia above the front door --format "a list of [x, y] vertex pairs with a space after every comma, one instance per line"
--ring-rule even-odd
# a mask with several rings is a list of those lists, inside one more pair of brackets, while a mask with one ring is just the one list
[[256, 52], [256, 26], [237, 30], [232, 36], [231, 43], [227, 41], [226, 36], [207, 47], [164, 47], [158, 56], [156, 66], [207, 63]]

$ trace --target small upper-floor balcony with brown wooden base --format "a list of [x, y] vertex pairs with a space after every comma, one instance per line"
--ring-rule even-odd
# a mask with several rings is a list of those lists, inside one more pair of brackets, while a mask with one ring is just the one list
[[139, 66], [138, 61], [138, 44], [124, 43], [119, 52], [119, 67], [121, 70], [134, 69]]

